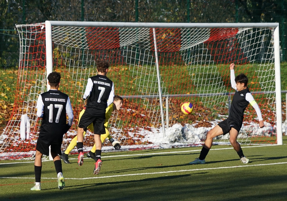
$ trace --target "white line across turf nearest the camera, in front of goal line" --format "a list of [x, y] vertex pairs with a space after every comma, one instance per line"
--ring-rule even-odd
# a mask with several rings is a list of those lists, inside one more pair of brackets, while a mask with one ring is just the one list
[[[269, 164], [258, 164], [258, 165], [239, 165], [239, 166], [230, 166], [230, 167], [200, 168], [200, 169], [176, 170], [176, 171], [165, 171], [165, 172], [137, 173], [137, 174], [126, 174], [126, 175], [111, 175], [111, 176], [103, 176], [103, 177], [65, 178], [65, 179], [75, 179], [75, 180], [102, 179], [102, 178], [111, 178], [111, 177], [126, 177], [126, 176], [138, 176], [138, 175], [154, 175], [154, 174], [166, 174], [166, 173], [177, 173], [177, 172], [188, 172], [188, 171], [229, 169], [229, 168], [239, 168], [239, 167], [254, 167], [254, 166], [281, 165], [281, 164], [287, 164], [287, 162], [282, 162], [282, 163], [269, 163]], [[34, 177], [0, 177], [0, 178], [3, 178], [3, 179], [4, 179], [4, 178], [9, 178], [9, 179], [35, 179]], [[42, 177], [41, 179], [56, 179], [56, 178]]]

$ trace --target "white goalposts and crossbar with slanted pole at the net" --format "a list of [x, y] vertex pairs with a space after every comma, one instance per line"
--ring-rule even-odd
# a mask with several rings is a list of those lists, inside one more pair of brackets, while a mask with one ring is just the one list
[[[154, 28], [274, 28], [274, 66], [275, 66], [275, 94], [276, 94], [276, 125], [277, 144], [282, 145], [282, 109], [281, 109], [281, 76], [280, 76], [280, 39], [279, 23], [144, 23], [144, 22], [78, 22], [78, 21], [45, 21], [40, 23], [46, 27], [46, 69], [47, 75], [53, 71], [52, 26], [88, 26], [88, 27], [138, 27], [153, 28], [154, 49], [156, 56], [157, 80], [164, 134], [163, 103], [161, 97], [160, 75], [158, 71], [158, 57]], [[49, 85], [47, 84], [49, 90]], [[128, 97], [127, 97], [128, 98]], [[168, 113], [167, 113], [168, 115]]]

